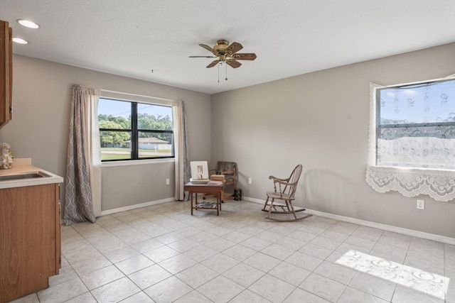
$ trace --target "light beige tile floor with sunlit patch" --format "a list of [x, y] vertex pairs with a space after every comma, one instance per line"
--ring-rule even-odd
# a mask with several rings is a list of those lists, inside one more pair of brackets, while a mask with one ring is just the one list
[[455, 303], [455, 246], [261, 208], [169, 202], [62, 226], [60, 275], [15, 302]]

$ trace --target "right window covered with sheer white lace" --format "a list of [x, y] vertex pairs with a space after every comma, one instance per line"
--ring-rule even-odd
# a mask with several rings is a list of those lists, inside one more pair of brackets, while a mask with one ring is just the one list
[[375, 89], [378, 166], [455, 170], [455, 79]]

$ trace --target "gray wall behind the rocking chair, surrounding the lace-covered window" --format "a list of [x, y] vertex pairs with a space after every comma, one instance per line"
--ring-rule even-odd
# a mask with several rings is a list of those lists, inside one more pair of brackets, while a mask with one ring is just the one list
[[446, 77], [454, 54], [452, 43], [214, 94], [211, 158], [237, 162], [245, 197], [264, 200], [269, 175], [288, 177], [301, 163], [300, 206], [454, 238], [453, 201], [380, 194], [365, 182], [369, 82]]

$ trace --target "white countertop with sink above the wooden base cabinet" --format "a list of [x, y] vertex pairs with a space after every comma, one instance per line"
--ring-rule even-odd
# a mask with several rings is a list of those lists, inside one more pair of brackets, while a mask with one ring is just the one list
[[[63, 177], [53, 174], [52, 172], [48, 172], [46, 170], [42, 170], [39, 167], [33, 166], [31, 164], [27, 164], [28, 162], [13, 162], [13, 167], [9, 170], [0, 170], [0, 176], [4, 175], [18, 175], [18, 174], [26, 174], [26, 173], [33, 173], [33, 172], [44, 172], [46, 175], [50, 177], [37, 177], [37, 178], [30, 178], [30, 179], [16, 179], [16, 180], [6, 180], [0, 181], [0, 189], [4, 188], [11, 188], [11, 187], [25, 187], [25, 186], [33, 186], [33, 185], [41, 185], [41, 184], [51, 184], [51, 183], [62, 183]], [[31, 163], [31, 161], [30, 161]]]

